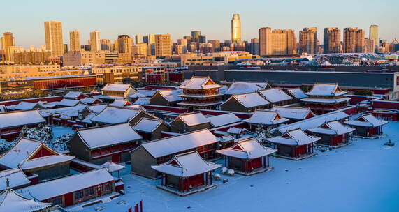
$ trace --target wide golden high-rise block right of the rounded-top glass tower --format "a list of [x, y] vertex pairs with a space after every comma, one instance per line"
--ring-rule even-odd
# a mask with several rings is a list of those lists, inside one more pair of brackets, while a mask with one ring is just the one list
[[259, 54], [293, 55], [296, 54], [296, 37], [291, 29], [275, 29], [263, 27], [259, 29]]

